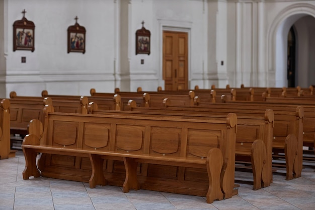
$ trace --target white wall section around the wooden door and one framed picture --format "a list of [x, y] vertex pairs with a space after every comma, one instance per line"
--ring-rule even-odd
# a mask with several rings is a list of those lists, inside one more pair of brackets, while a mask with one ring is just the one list
[[[141, 84], [143, 90], [164, 88], [162, 80], [163, 30], [184, 31], [189, 36], [189, 81], [190, 88], [203, 82], [206, 61], [207, 11], [203, 1], [191, 0], [133, 0], [131, 1], [131, 33], [129, 35], [130, 77], [132, 91]], [[141, 22], [151, 33], [151, 53], [135, 55], [135, 32]], [[141, 64], [141, 59], [144, 64]]]

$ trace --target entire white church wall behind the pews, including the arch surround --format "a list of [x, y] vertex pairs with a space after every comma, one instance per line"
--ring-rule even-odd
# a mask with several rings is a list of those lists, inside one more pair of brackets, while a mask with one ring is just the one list
[[[189, 34], [189, 88], [283, 86], [284, 37], [294, 23], [302, 28], [299, 18], [315, 17], [314, 5], [282, 0], [0, 0], [0, 86], [6, 84], [0, 94], [40, 95], [47, 89], [51, 94], [89, 95], [91, 88], [164, 87], [163, 30]], [[13, 52], [12, 25], [22, 19], [24, 9], [35, 23], [35, 51]], [[67, 53], [66, 30], [75, 16], [87, 30], [85, 54]], [[142, 21], [151, 32], [150, 55], [135, 55], [135, 32]], [[309, 60], [297, 69], [303, 87], [315, 83], [314, 24], [308, 21], [299, 31], [309, 40], [299, 40], [299, 50], [308, 46], [298, 51]], [[26, 63], [21, 63], [22, 56]]]

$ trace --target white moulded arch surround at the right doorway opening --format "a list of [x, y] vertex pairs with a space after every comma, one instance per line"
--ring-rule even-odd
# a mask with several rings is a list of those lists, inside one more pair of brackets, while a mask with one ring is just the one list
[[[267, 32], [267, 64], [269, 86], [287, 86], [286, 47], [287, 35], [291, 26], [303, 16], [315, 17], [315, 6], [310, 4], [293, 4], [284, 8], [275, 17]], [[274, 81], [272, 81], [274, 80]]]

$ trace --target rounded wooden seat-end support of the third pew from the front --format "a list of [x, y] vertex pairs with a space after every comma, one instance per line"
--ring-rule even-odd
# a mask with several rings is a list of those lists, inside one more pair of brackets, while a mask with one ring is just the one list
[[297, 153], [297, 139], [294, 134], [289, 134], [285, 138], [284, 155], [286, 166], [286, 180], [293, 179], [293, 165], [296, 159]]

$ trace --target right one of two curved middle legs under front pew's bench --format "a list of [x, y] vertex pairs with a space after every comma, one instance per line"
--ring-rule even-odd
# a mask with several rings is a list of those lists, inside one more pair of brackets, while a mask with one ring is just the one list
[[126, 169], [126, 178], [123, 184], [123, 192], [129, 192], [130, 189], [140, 189], [140, 184], [137, 179], [138, 163], [133, 158], [124, 157], [123, 160]]

